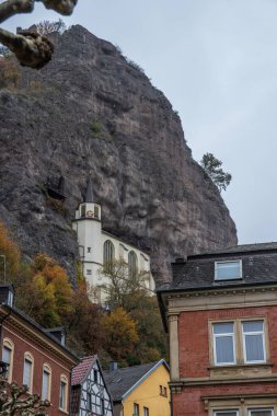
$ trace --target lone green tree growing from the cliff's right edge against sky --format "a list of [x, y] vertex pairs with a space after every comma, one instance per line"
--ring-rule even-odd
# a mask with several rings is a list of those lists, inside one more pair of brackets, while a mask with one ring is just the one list
[[219, 192], [226, 190], [227, 186], [230, 185], [232, 175], [221, 169], [222, 162], [212, 153], [206, 153], [203, 155], [200, 165], [218, 187]]

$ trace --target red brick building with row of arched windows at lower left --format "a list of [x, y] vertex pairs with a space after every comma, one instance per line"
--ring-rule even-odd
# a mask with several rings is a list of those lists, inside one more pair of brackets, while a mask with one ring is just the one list
[[8, 381], [27, 384], [51, 406], [49, 416], [69, 413], [70, 374], [79, 362], [65, 345], [62, 328], [44, 330], [13, 307], [12, 286], [0, 286], [1, 360]]

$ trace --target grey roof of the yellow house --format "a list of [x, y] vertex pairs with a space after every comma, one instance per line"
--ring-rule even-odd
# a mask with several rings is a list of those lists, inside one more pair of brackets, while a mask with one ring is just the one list
[[159, 366], [166, 362], [162, 359], [157, 362], [150, 362], [141, 366], [120, 368], [114, 371], [104, 371], [104, 378], [112, 394], [113, 402], [120, 402], [136, 385], [140, 384], [145, 378], [154, 371]]

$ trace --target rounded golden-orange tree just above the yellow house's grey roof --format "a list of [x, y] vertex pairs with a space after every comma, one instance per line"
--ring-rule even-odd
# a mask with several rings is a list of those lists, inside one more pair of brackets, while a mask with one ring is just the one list
[[124, 362], [139, 340], [136, 323], [123, 308], [117, 308], [103, 314], [101, 324], [105, 350], [115, 361]]

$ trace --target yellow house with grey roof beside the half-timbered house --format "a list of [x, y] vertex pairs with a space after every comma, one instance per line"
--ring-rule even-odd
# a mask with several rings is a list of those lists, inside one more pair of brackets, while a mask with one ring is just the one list
[[114, 416], [170, 416], [170, 369], [163, 359], [122, 369], [112, 366], [104, 374]]

